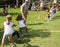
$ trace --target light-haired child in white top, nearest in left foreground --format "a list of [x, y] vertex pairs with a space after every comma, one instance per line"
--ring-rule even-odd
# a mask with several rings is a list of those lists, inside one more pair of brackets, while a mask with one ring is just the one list
[[2, 38], [2, 47], [4, 47], [6, 38], [8, 38], [11, 41], [12, 47], [16, 47], [14, 40], [12, 39], [12, 34], [14, 32], [12, 27], [16, 25], [13, 24], [11, 20], [12, 20], [11, 15], [7, 15], [6, 21], [4, 22], [4, 35]]

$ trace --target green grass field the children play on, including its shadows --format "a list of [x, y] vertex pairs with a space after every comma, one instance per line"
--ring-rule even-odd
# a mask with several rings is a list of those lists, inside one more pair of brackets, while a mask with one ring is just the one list
[[[1, 15], [0, 8], [0, 29], [3, 27], [5, 16]], [[9, 9], [12, 15], [12, 21], [18, 25], [16, 16], [20, 13], [20, 8]], [[38, 19], [39, 17], [39, 19]], [[60, 12], [55, 14], [54, 19], [45, 21], [46, 11], [29, 11], [27, 17], [27, 27], [29, 36], [24, 36], [21, 41], [14, 40], [17, 47], [60, 47]], [[14, 28], [18, 30], [18, 26]], [[0, 45], [3, 31], [0, 31]], [[11, 44], [6, 40], [5, 47], [11, 47]]]

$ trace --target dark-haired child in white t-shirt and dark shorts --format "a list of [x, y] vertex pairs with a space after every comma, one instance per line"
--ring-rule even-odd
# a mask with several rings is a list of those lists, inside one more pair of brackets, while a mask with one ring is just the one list
[[26, 25], [25, 25], [25, 23], [24, 23], [24, 20], [23, 20], [23, 18], [22, 18], [22, 15], [21, 15], [21, 14], [18, 15], [17, 18], [16, 18], [16, 20], [18, 21], [19, 31], [21, 32], [21, 34], [22, 34], [22, 29], [25, 28], [25, 29], [26, 29], [25, 35], [28, 35], [27, 27], [26, 27]]

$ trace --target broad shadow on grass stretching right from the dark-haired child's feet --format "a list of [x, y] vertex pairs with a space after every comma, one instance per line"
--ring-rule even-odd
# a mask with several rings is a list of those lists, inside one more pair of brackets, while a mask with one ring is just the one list
[[34, 37], [41, 37], [41, 38], [46, 38], [50, 37], [51, 32], [49, 32], [47, 29], [39, 29], [39, 30], [30, 30], [29, 31], [30, 38]]

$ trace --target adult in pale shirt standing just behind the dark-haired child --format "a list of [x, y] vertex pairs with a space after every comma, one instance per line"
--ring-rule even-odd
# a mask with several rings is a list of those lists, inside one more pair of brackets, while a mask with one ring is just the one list
[[28, 0], [21, 5], [21, 14], [26, 24], [27, 14], [28, 14]]

